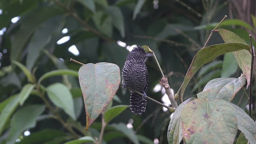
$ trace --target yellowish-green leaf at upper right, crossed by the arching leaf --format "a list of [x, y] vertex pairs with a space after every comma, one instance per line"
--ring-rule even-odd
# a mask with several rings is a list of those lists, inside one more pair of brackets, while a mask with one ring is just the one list
[[[229, 30], [219, 28], [218, 32], [219, 32], [220, 36], [222, 37], [222, 39], [224, 40], [224, 42], [226, 42], [226, 43], [238, 42], [238, 43], [246, 44], [246, 42], [244, 42], [244, 40], [242, 40], [242, 38], [240, 38], [233, 32], [230, 32]], [[250, 49], [249, 50], [239, 50], [239, 51], [233, 52], [233, 55], [236, 58], [238, 66], [241, 68], [241, 70], [247, 80], [246, 88], [248, 88], [248, 86], [250, 85], [250, 72], [251, 72], [251, 59], [252, 59], [252, 55], [250, 52], [251, 52]]]

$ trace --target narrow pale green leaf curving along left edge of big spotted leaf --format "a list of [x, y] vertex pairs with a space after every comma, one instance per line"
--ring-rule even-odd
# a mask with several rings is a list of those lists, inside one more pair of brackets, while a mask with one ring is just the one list
[[168, 144], [180, 144], [182, 141], [182, 128], [180, 123], [180, 114], [182, 112], [183, 107], [185, 104], [190, 102], [191, 100], [194, 100], [196, 98], [189, 98], [188, 100], [185, 100], [183, 104], [180, 104], [178, 108], [174, 111], [174, 114], [170, 120], [168, 130], [167, 130], [167, 140]]

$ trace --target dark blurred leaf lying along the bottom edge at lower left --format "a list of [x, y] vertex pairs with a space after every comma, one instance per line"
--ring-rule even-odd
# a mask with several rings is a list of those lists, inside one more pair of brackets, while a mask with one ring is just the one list
[[62, 136], [66, 136], [66, 133], [60, 130], [46, 128], [39, 132], [32, 132], [29, 136], [24, 136], [19, 144], [39, 144]]

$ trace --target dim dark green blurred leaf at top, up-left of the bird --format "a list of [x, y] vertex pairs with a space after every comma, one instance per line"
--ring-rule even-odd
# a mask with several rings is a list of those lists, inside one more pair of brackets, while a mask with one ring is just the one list
[[100, 32], [106, 34], [108, 37], [112, 37], [113, 25], [110, 16], [107, 16], [102, 11], [97, 11], [93, 16], [92, 20]]

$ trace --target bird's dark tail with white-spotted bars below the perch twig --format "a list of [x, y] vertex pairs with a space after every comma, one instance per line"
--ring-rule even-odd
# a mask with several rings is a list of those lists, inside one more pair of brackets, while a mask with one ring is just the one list
[[130, 96], [130, 109], [134, 114], [141, 115], [146, 111], [147, 100], [142, 96], [132, 92]]

